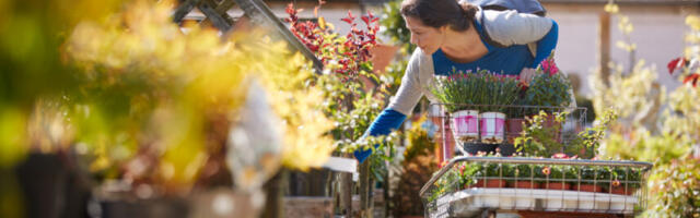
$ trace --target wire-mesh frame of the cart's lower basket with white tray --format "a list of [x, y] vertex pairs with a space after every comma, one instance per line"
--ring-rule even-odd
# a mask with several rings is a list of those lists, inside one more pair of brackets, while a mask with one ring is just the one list
[[[492, 187], [477, 182], [476, 185], [463, 185], [455, 179], [460, 165], [526, 165], [526, 166], [571, 166], [579, 169], [579, 177], [548, 179], [518, 178], [509, 175], [500, 170], [497, 177], [477, 174], [476, 181], [502, 180], [508, 184]], [[627, 169], [645, 174], [652, 167], [650, 162], [640, 161], [606, 161], [580, 159], [549, 159], [520, 157], [456, 157], [438, 171], [420, 191], [420, 197], [425, 205], [425, 217], [476, 217], [494, 213], [516, 213], [523, 217], [557, 215], [557, 217], [609, 217], [633, 216], [646, 205], [644, 177], [632, 179], [619, 178], [618, 181], [626, 192], [616, 194], [612, 189], [605, 192], [587, 192], [578, 189], [575, 184], [591, 182], [604, 187], [610, 186], [612, 179], [587, 180], [581, 177], [582, 169], [597, 167], [602, 169]], [[501, 168], [503, 169], [503, 168]], [[533, 168], [534, 169], [534, 168]], [[462, 169], [464, 170], [464, 168]], [[539, 182], [542, 185], [557, 183], [559, 180], [573, 183], [573, 187], [536, 189], [513, 187], [516, 181]], [[480, 185], [481, 184], [481, 185]], [[632, 189], [638, 187], [638, 189]], [[547, 216], [545, 216], [547, 217]]]

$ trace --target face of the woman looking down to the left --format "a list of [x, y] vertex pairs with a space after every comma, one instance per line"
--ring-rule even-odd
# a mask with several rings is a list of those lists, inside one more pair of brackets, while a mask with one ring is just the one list
[[404, 16], [406, 27], [411, 32], [411, 44], [418, 46], [425, 55], [432, 55], [442, 46], [444, 29], [423, 25], [420, 19]]

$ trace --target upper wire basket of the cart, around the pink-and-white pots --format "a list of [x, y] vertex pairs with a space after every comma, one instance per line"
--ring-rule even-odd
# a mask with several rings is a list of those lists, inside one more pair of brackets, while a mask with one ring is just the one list
[[[431, 104], [430, 108], [429, 117], [438, 126], [434, 140], [451, 153], [447, 159], [454, 153], [513, 155], [514, 140], [521, 135], [528, 119], [540, 111], [547, 113], [541, 122], [544, 128], [552, 134], [552, 140], [564, 146], [586, 128], [586, 108], [583, 107]], [[557, 120], [559, 114], [564, 119]]]

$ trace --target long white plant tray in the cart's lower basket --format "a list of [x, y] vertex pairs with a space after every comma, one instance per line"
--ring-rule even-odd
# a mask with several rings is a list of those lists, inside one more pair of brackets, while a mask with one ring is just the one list
[[472, 217], [489, 210], [633, 214], [637, 196], [535, 189], [472, 187], [435, 201], [430, 217]]

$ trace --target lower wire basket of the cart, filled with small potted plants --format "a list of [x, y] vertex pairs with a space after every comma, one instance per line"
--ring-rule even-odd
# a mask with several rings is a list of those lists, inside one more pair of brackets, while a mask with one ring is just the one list
[[483, 211], [633, 216], [646, 205], [651, 167], [640, 161], [460, 156], [434, 173], [420, 197], [425, 217]]

